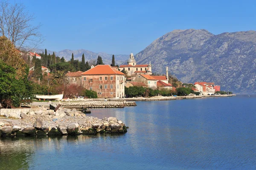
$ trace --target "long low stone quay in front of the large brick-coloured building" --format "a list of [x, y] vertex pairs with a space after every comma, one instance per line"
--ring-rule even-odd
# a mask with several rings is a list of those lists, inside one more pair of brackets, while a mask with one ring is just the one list
[[87, 102], [61, 102], [67, 108], [113, 108], [137, 106], [133, 101], [87, 101]]

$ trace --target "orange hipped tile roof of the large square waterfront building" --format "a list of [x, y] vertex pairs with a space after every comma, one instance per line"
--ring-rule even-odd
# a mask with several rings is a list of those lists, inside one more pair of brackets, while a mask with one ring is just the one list
[[81, 75], [125, 75], [124, 73], [112, 68], [110, 65], [97, 65]]

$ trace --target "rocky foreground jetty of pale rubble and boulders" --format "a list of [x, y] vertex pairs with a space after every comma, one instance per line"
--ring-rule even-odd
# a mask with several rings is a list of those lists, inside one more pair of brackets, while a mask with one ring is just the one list
[[[95, 118], [76, 109], [60, 107], [56, 112], [44, 107], [0, 109], [1, 136], [23, 135], [95, 135], [126, 133], [127, 127], [114, 117]], [[9, 116], [8, 116], [9, 115]], [[12, 117], [12, 116], [15, 117]]]

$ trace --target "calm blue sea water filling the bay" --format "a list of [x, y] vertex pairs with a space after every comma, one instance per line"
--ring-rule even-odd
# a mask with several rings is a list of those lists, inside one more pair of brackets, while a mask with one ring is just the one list
[[125, 135], [0, 139], [1, 170], [255, 170], [256, 95], [92, 109]]

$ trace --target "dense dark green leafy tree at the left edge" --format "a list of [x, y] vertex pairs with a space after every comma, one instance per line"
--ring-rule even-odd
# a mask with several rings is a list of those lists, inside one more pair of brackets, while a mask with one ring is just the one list
[[32, 86], [27, 79], [29, 68], [25, 69], [25, 76], [17, 78], [16, 69], [0, 60], [0, 103], [2, 107], [20, 107], [21, 104], [31, 102]]

